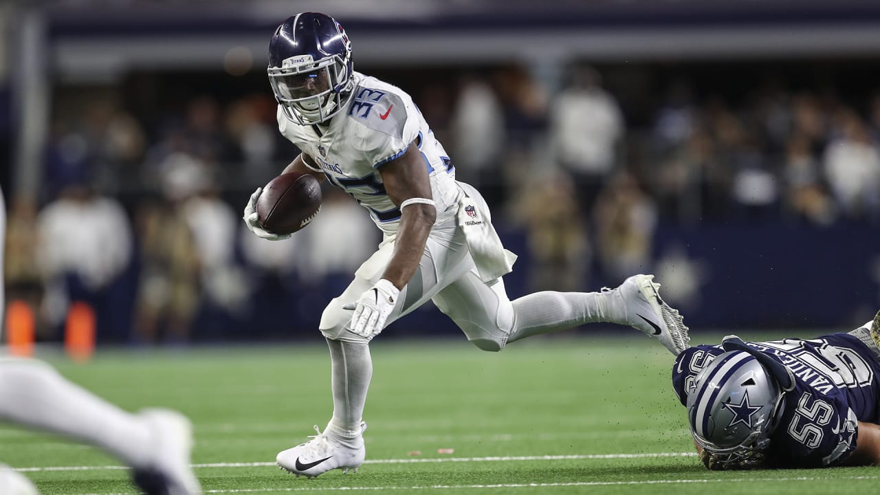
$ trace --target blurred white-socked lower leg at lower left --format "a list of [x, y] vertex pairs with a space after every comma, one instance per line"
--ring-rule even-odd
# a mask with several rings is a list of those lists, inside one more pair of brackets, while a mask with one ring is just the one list
[[148, 462], [143, 421], [38, 360], [0, 359], [0, 419], [102, 447], [129, 466]]

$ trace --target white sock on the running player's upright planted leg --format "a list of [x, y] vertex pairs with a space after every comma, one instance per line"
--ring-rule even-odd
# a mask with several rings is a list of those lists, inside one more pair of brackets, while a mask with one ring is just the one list
[[359, 437], [363, 405], [373, 375], [370, 344], [327, 339], [333, 366], [333, 419], [327, 429], [340, 437]]

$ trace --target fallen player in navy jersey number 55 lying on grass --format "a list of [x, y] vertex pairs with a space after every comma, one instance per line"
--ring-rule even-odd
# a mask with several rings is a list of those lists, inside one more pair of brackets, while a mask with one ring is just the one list
[[849, 333], [678, 355], [672, 385], [708, 469], [880, 464], [880, 313]]

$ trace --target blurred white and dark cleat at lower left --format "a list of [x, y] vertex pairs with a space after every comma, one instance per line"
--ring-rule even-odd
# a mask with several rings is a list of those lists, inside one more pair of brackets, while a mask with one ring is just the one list
[[135, 466], [132, 477], [147, 495], [198, 495], [199, 480], [189, 466], [193, 448], [193, 426], [177, 411], [146, 409], [139, 416], [150, 428], [153, 440], [150, 462]]

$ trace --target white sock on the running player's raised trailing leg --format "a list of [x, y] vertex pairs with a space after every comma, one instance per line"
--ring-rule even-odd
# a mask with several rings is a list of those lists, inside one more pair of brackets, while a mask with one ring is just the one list
[[[535, 292], [512, 301], [514, 329], [507, 342], [570, 329], [585, 323], [620, 323], [613, 292]], [[626, 324], [626, 321], [623, 321]]]

